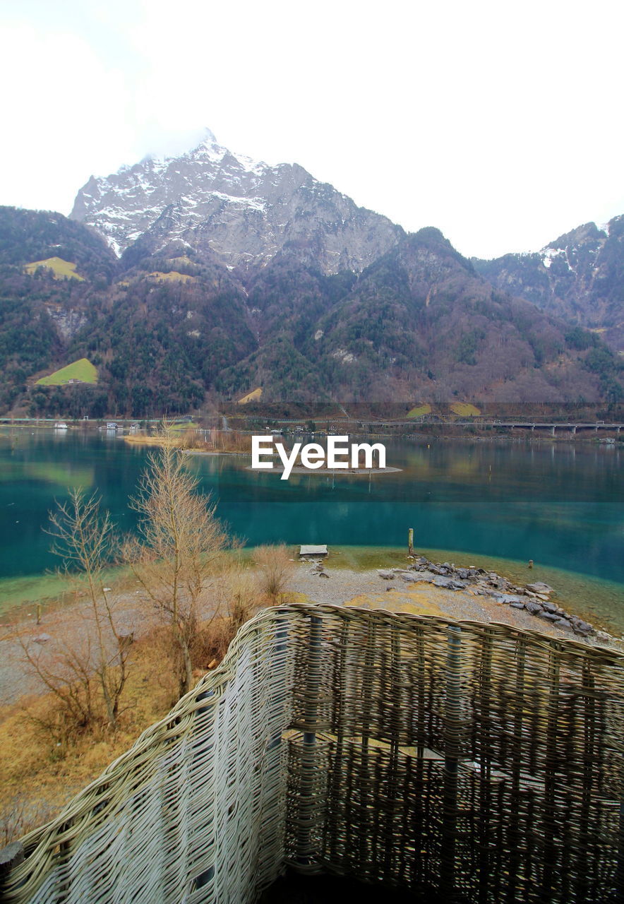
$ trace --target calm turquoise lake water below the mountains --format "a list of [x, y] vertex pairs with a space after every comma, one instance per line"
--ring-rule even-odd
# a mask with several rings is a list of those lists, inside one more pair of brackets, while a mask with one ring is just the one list
[[[190, 457], [230, 532], [261, 542], [466, 551], [624, 585], [624, 450], [601, 444], [387, 441], [396, 474], [336, 476], [247, 470], [248, 459]], [[149, 449], [79, 429], [0, 429], [0, 598], [3, 579], [58, 562], [44, 532], [55, 500], [101, 494], [122, 531]], [[622, 588], [624, 589], [624, 587]], [[624, 604], [623, 604], [624, 605]]]

